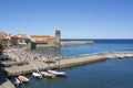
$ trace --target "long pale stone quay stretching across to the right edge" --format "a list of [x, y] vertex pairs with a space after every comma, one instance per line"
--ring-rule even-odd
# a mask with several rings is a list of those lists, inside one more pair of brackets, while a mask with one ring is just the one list
[[[84, 54], [80, 56], [69, 56], [69, 57], [63, 57], [61, 59], [57, 59], [55, 63], [48, 64], [44, 61], [39, 61], [39, 59], [30, 59], [27, 64], [25, 62], [22, 62], [21, 64], [17, 64], [17, 62], [1, 62], [1, 64], [8, 65], [11, 64], [12, 66], [4, 66], [1, 67], [3, 73], [7, 76], [16, 76], [20, 74], [28, 74], [32, 73], [35, 70], [34, 66], [38, 69], [48, 69], [48, 68], [65, 68], [65, 67], [72, 67], [72, 66], [78, 66], [82, 64], [89, 64], [89, 63], [95, 63], [100, 61], [105, 61], [106, 58], [111, 56], [133, 56], [133, 51], [131, 52], [105, 52], [105, 53], [94, 53], [94, 54]], [[33, 66], [34, 65], [34, 66]], [[13, 87], [11, 87], [13, 88]]]

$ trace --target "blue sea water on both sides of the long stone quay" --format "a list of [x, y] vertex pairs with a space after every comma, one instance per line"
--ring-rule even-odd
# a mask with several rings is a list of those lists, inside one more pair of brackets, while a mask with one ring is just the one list
[[[34, 52], [45, 55], [76, 56], [113, 51], [133, 51], [133, 40], [94, 40], [94, 44], [38, 48]], [[29, 74], [25, 76], [30, 78], [30, 82], [22, 84], [20, 88], [133, 88], [132, 67], [133, 57], [61, 69], [68, 76], [54, 79], [35, 79]]]

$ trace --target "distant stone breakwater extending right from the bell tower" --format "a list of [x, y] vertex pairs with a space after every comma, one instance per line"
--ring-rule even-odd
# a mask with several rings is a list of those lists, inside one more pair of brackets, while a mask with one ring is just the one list
[[79, 44], [93, 44], [93, 41], [65, 41], [61, 42], [61, 46], [79, 45]]

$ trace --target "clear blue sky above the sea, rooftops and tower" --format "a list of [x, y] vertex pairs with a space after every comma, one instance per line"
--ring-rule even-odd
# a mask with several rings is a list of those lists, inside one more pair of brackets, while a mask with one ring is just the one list
[[133, 38], [133, 0], [0, 0], [0, 31], [62, 38]]

